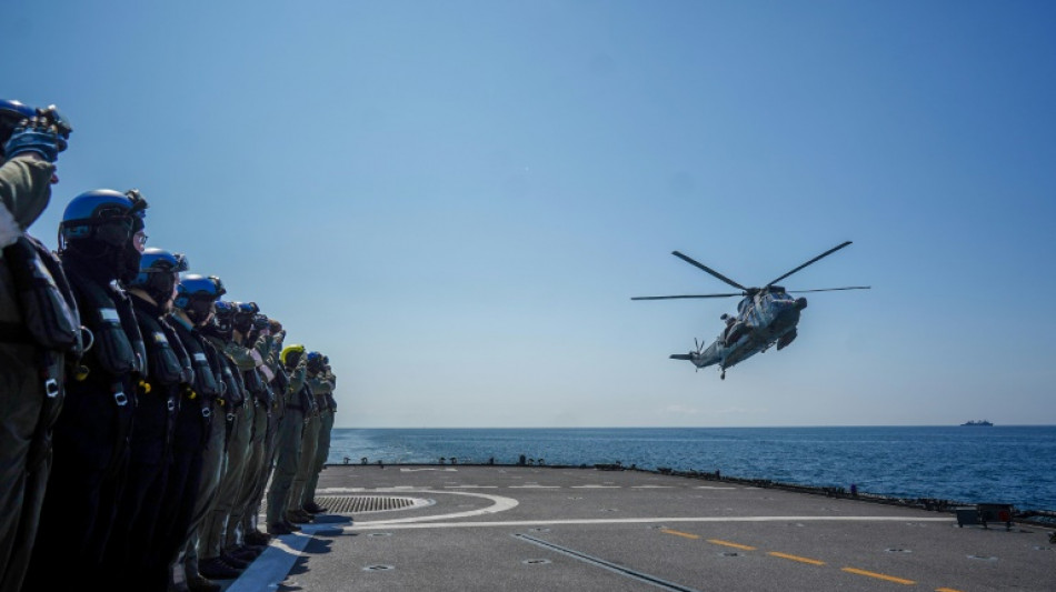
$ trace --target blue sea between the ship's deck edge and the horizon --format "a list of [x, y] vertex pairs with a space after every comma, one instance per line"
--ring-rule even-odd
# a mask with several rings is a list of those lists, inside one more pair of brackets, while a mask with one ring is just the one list
[[328, 462], [620, 462], [1056, 511], [1056, 427], [335, 429]]

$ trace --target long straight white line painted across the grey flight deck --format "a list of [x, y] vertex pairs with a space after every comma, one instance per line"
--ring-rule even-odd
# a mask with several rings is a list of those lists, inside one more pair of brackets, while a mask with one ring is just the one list
[[[461, 493], [468, 492], [432, 492], [432, 493]], [[477, 494], [482, 495], [482, 494]], [[498, 498], [496, 495], [496, 498]], [[514, 500], [516, 501], [516, 500]], [[508, 510], [508, 508], [507, 508]], [[357, 522], [350, 526], [345, 526], [346, 532], [369, 529], [460, 529], [460, 528], [485, 528], [485, 526], [544, 526], [551, 524], [648, 524], [665, 522], [901, 522], [903, 516], [729, 516], [729, 518], [695, 518], [695, 516], [658, 516], [658, 518], [596, 518], [596, 519], [557, 519], [557, 520], [512, 520], [502, 522], [426, 522], [441, 520], [452, 516], [462, 518], [465, 515], [478, 515], [488, 512], [498, 512], [500, 510], [476, 510], [474, 512], [461, 512], [458, 514], [445, 514], [437, 516], [418, 516], [398, 520], [376, 520], [370, 522]], [[924, 519], [929, 522], [954, 522], [953, 518], [929, 518]], [[920, 519], [914, 522], [920, 522]], [[419, 523], [416, 523], [419, 522]]]

